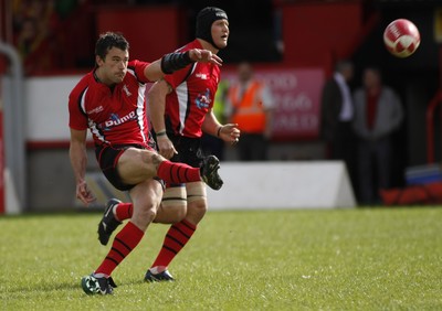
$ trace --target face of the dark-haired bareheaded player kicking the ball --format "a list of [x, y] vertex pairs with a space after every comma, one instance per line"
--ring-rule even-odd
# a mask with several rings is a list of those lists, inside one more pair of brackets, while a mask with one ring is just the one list
[[112, 47], [104, 60], [98, 61], [102, 72], [101, 79], [107, 85], [123, 82], [127, 73], [127, 63], [129, 62], [129, 52]]

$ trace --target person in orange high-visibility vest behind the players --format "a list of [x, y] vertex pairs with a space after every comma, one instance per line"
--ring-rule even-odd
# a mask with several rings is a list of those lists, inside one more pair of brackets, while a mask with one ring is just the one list
[[270, 88], [253, 75], [250, 63], [238, 66], [238, 82], [232, 83], [228, 96], [228, 115], [241, 129], [240, 160], [267, 160], [272, 136], [274, 100]]

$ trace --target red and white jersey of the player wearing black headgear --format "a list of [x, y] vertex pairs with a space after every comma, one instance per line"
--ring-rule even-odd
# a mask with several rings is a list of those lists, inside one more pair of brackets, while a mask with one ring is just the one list
[[[179, 52], [203, 49], [194, 40]], [[166, 75], [165, 79], [173, 92], [166, 97], [166, 115], [173, 132], [191, 138], [201, 137], [201, 125], [206, 114], [213, 106], [214, 94], [220, 81], [220, 67], [214, 64], [193, 63], [183, 69]]]

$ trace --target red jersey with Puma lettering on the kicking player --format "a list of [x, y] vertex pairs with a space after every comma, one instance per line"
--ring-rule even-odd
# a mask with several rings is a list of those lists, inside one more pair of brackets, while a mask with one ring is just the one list
[[70, 127], [90, 128], [96, 144], [138, 143], [147, 146], [149, 129], [146, 117], [148, 63], [130, 61], [123, 82], [113, 90], [86, 74], [69, 97]]

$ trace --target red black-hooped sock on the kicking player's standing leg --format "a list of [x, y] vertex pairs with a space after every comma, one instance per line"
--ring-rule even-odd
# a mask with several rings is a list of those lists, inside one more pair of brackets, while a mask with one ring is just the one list
[[95, 274], [110, 276], [115, 268], [127, 255], [138, 245], [144, 236], [144, 232], [131, 222], [128, 222], [123, 229], [115, 236], [112, 248], [103, 260]]

